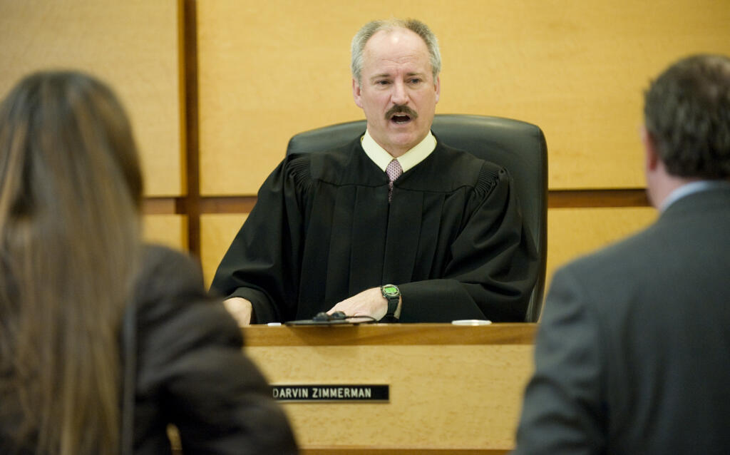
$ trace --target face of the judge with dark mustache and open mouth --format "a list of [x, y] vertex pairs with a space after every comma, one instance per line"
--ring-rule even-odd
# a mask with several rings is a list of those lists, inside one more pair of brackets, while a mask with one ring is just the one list
[[374, 34], [363, 50], [361, 84], [353, 80], [370, 135], [395, 157], [429, 134], [439, 89], [426, 43], [405, 28]]

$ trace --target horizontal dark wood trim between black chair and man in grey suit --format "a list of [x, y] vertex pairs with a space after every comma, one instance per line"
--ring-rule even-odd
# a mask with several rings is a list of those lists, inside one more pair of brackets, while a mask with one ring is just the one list
[[550, 190], [548, 208], [648, 207], [644, 188], [615, 190]]

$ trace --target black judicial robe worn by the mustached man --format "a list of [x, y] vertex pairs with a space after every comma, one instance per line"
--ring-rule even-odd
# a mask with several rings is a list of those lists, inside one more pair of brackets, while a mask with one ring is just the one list
[[396, 180], [362, 149], [287, 156], [218, 267], [212, 291], [254, 321], [311, 318], [393, 283], [401, 322], [524, 321], [537, 253], [504, 168], [438, 142]]

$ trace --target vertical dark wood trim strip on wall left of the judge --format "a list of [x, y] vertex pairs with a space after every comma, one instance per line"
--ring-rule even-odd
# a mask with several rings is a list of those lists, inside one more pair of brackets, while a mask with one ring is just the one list
[[200, 153], [198, 112], [198, 27], [196, 0], [183, 0], [180, 26], [185, 96], [185, 182], [183, 213], [188, 215], [188, 251], [200, 257]]

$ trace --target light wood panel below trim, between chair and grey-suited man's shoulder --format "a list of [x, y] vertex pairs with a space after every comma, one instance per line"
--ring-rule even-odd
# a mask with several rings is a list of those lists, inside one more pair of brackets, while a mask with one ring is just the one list
[[548, 287], [553, 272], [578, 256], [638, 232], [656, 220], [651, 207], [548, 210]]

